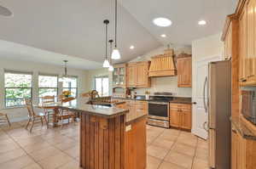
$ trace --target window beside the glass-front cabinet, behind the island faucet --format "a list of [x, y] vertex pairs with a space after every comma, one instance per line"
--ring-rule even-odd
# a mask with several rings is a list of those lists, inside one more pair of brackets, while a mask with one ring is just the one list
[[100, 96], [108, 96], [108, 76], [96, 77], [95, 89]]

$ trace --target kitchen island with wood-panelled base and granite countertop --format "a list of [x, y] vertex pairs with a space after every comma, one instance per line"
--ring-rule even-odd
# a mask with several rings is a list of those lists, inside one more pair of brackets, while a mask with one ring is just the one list
[[129, 110], [115, 106], [55, 104], [55, 107], [80, 115], [82, 168], [146, 168], [147, 115], [137, 115], [126, 121]]

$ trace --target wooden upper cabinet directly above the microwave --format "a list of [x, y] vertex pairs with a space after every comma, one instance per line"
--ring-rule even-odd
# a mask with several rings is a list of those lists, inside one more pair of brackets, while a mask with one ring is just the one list
[[256, 85], [256, 0], [245, 4], [239, 17], [241, 86]]

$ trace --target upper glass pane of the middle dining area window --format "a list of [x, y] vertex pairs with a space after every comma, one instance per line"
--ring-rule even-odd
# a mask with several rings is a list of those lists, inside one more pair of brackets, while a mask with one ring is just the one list
[[57, 76], [39, 76], [39, 87], [58, 87]]

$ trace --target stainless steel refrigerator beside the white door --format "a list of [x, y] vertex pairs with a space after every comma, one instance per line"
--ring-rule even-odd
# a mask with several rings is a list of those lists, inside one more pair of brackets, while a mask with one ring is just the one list
[[211, 62], [208, 79], [209, 166], [230, 169], [231, 61]]

